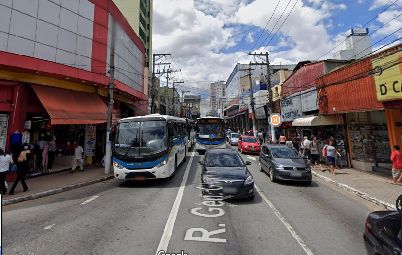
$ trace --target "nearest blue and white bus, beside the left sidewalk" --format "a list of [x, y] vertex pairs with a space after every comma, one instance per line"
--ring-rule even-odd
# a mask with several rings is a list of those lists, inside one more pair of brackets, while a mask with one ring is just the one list
[[151, 114], [121, 119], [112, 134], [116, 179], [174, 177], [187, 156], [187, 122]]

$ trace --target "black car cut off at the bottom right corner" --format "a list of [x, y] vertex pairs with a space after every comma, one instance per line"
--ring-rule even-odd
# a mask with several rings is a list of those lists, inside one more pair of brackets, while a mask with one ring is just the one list
[[368, 255], [402, 255], [401, 214], [377, 211], [368, 215], [363, 240]]

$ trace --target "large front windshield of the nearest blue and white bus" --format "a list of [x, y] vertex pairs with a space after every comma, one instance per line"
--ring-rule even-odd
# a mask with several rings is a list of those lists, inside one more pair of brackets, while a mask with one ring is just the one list
[[134, 121], [117, 126], [115, 153], [124, 156], [154, 155], [166, 149], [165, 121]]

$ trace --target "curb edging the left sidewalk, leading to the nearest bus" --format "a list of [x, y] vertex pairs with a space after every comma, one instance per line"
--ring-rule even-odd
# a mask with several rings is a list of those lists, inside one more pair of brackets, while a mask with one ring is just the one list
[[73, 184], [73, 185], [69, 185], [69, 186], [65, 186], [65, 187], [61, 187], [61, 188], [46, 190], [46, 191], [38, 192], [38, 193], [35, 193], [35, 194], [30, 194], [30, 195], [18, 197], [18, 198], [6, 199], [6, 200], [1, 201], [1, 205], [9, 205], [9, 204], [13, 204], [13, 203], [19, 203], [19, 202], [23, 202], [23, 201], [43, 198], [43, 197], [54, 195], [54, 194], [61, 193], [61, 192], [64, 192], [64, 191], [85, 187], [85, 186], [88, 186], [88, 185], [96, 184], [98, 182], [107, 181], [107, 180], [110, 180], [110, 179], [113, 179], [113, 178], [114, 178], [114, 174], [113, 175], [108, 175], [108, 176], [105, 176], [105, 177], [102, 177], [102, 178], [98, 178], [98, 179], [95, 179], [95, 180], [91, 180], [91, 181], [88, 181], [88, 182], [81, 182], [81, 183], [77, 183], [77, 184]]

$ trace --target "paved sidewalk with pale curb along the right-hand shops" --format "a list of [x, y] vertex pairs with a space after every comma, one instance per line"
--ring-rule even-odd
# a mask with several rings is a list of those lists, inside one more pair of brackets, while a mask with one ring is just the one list
[[402, 185], [391, 185], [391, 177], [364, 172], [357, 169], [335, 169], [335, 176], [328, 171], [321, 172], [319, 167], [313, 175], [337, 185], [359, 197], [378, 204], [388, 210], [396, 210], [395, 202], [402, 194]]

